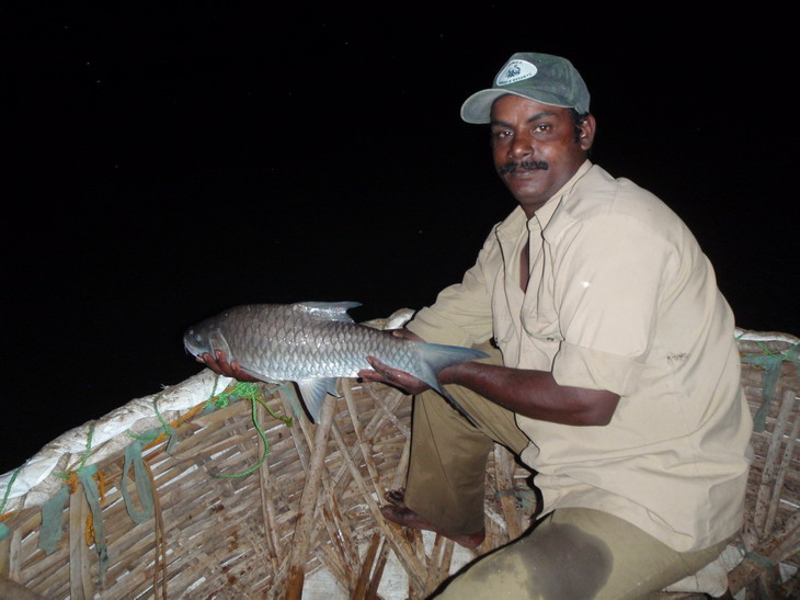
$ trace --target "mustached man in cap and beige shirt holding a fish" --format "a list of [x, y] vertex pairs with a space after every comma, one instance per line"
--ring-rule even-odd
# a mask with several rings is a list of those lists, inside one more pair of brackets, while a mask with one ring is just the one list
[[403, 335], [496, 344], [494, 360], [439, 374], [480, 427], [373, 358], [361, 373], [416, 395], [387, 519], [477, 546], [492, 444], [536, 472], [544, 517], [443, 597], [640, 598], [715, 559], [741, 525], [751, 419], [733, 316], [679, 218], [587, 160], [588, 102], [568, 60], [519, 53], [461, 109], [490, 124], [518, 206]]

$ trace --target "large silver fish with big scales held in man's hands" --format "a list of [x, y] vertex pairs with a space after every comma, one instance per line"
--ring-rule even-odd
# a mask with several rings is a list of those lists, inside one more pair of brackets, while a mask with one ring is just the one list
[[398, 338], [358, 325], [347, 315], [356, 302], [304, 302], [237, 306], [191, 327], [183, 337], [194, 354], [224, 350], [248, 374], [265, 382], [293, 381], [315, 422], [325, 393], [336, 396], [336, 377], [372, 369], [367, 356], [414, 375], [475, 420], [438, 383], [452, 364], [487, 356], [484, 352]]

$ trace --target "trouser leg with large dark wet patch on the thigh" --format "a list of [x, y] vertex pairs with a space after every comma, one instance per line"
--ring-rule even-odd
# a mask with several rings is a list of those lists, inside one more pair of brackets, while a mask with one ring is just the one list
[[439, 598], [645, 598], [698, 571], [724, 547], [679, 553], [606, 512], [559, 509], [460, 573]]

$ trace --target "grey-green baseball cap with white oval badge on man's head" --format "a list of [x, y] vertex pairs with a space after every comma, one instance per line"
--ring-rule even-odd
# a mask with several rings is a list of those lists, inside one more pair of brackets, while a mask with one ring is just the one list
[[492, 103], [513, 93], [551, 106], [588, 112], [588, 90], [572, 63], [560, 56], [516, 53], [494, 78], [494, 86], [470, 95], [461, 105], [467, 123], [489, 123]]

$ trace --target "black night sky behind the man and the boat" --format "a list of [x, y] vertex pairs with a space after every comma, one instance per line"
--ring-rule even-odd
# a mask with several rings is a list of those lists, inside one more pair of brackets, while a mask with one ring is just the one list
[[739, 325], [800, 333], [785, 14], [228, 4], [0, 2], [0, 473], [196, 373], [182, 332], [224, 308], [369, 318], [458, 281], [513, 208], [458, 109], [521, 49], [581, 70], [593, 159], [687, 222]]

